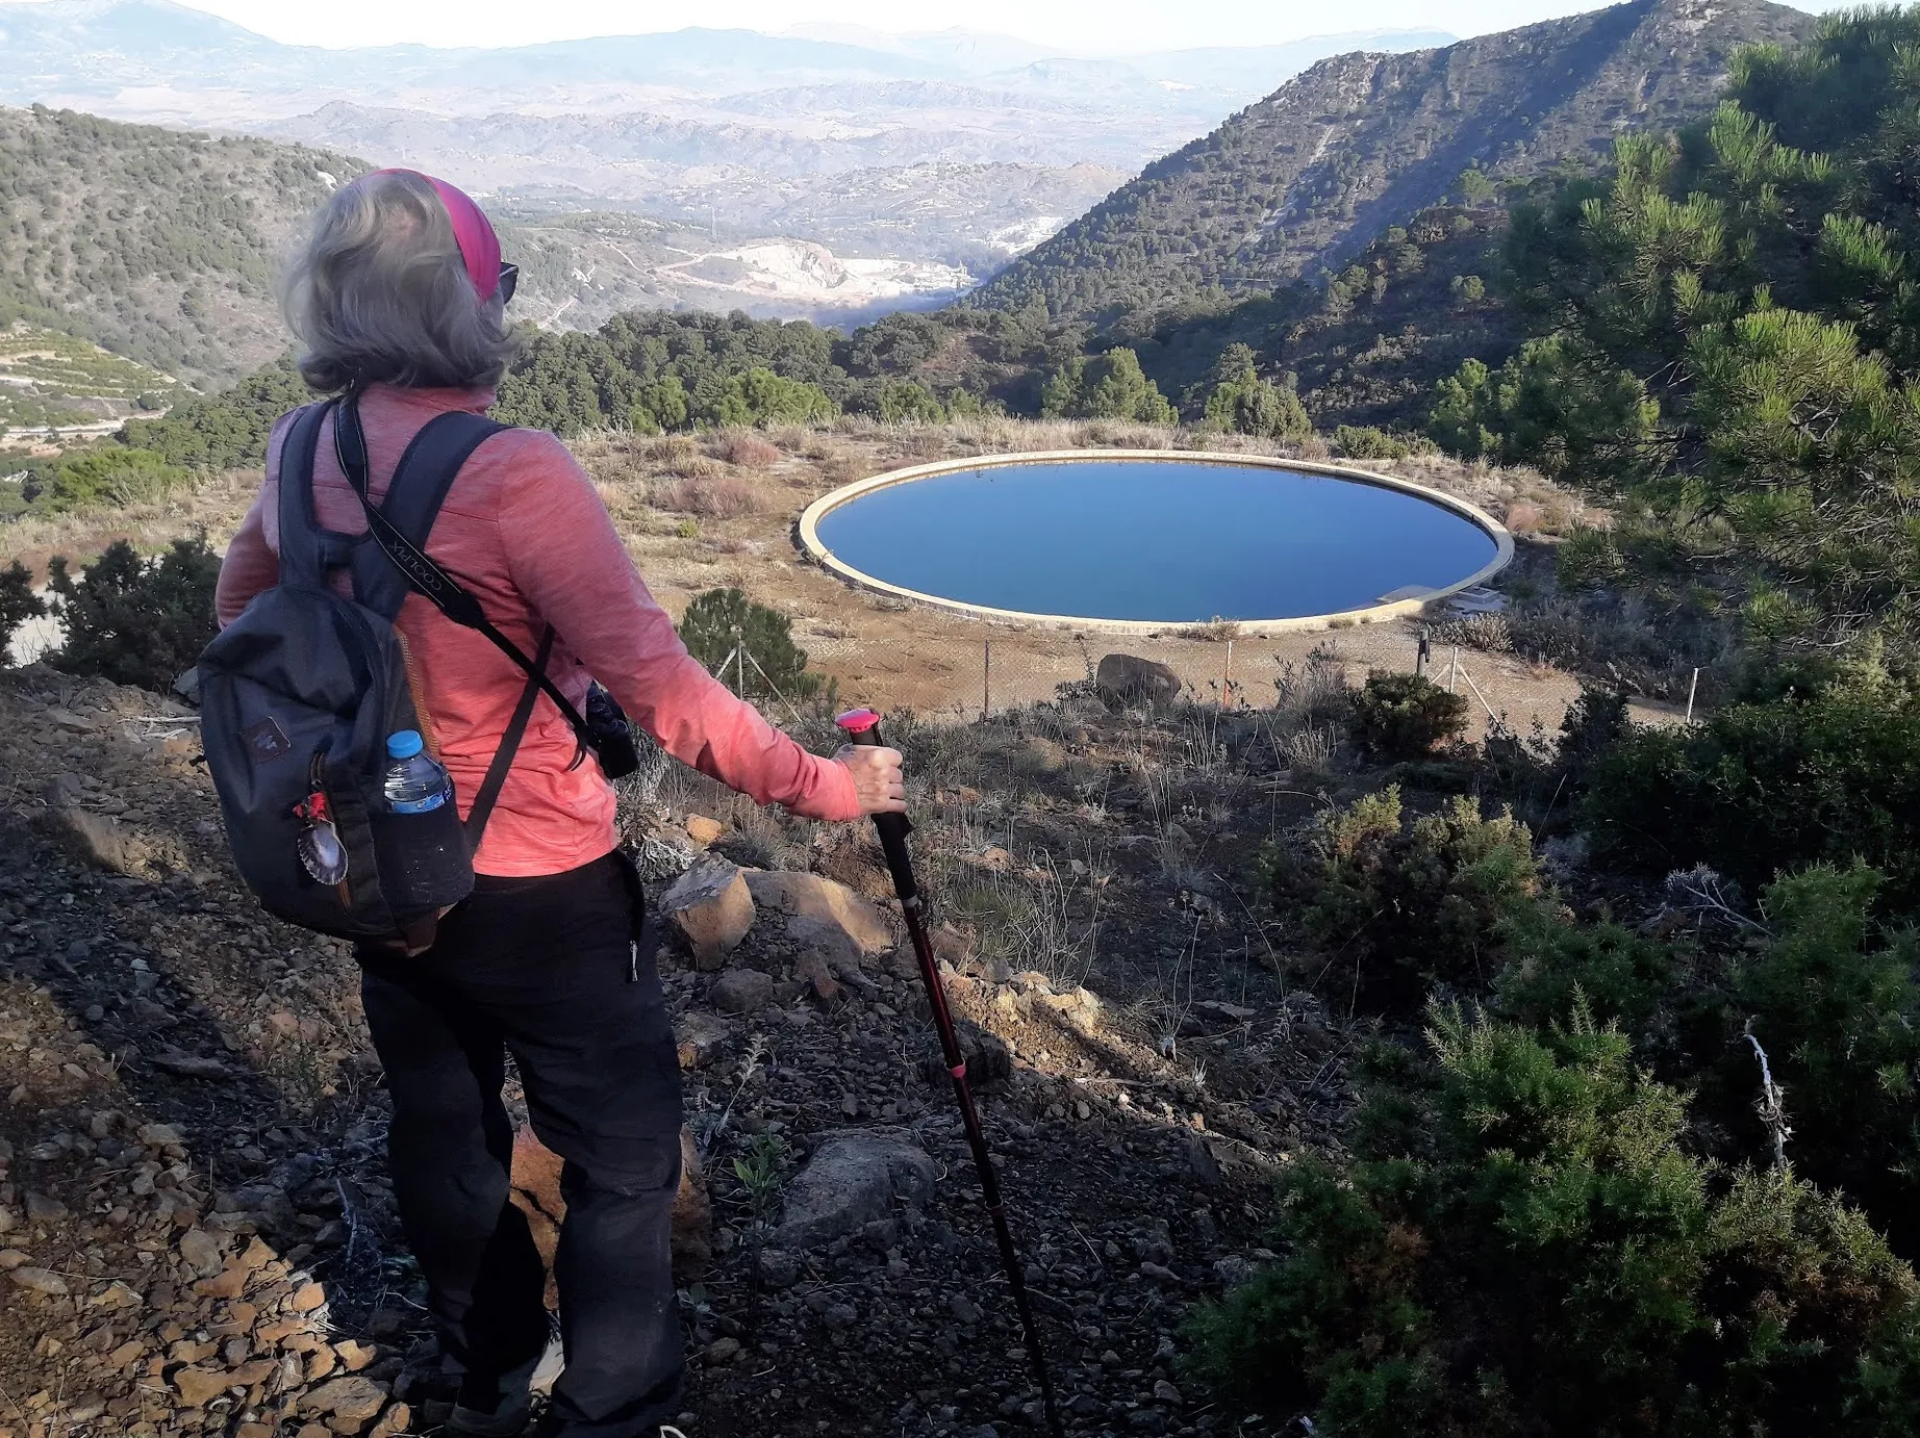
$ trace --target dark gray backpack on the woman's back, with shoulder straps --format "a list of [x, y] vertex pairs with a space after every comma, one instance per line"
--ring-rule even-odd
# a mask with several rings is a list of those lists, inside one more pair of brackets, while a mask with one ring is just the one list
[[[367, 534], [323, 530], [313, 457], [334, 411], [340, 467]], [[461, 465], [503, 426], [453, 411], [407, 445], [386, 497], [367, 497], [367, 443], [353, 395], [307, 405], [280, 453], [280, 582], [200, 657], [202, 739], [240, 877], [282, 920], [342, 939], [432, 943], [438, 916], [472, 889], [472, 851], [499, 799], [541, 693], [591, 747], [586, 720], [547, 678], [551, 626], [526, 659], [478, 601], [426, 557], [426, 536]], [[348, 570], [353, 597], [328, 586]], [[417, 589], [447, 618], [486, 634], [528, 674], [526, 689], [467, 824], [455, 804], [392, 814], [386, 739], [422, 730], [394, 618]]]

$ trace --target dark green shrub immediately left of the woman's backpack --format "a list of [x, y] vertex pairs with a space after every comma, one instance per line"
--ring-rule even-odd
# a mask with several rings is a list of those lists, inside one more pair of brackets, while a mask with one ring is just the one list
[[115, 539], [79, 580], [56, 557], [48, 586], [67, 641], [48, 662], [69, 674], [169, 689], [213, 637], [219, 574], [221, 557], [204, 534], [175, 539], [157, 559], [140, 559]]

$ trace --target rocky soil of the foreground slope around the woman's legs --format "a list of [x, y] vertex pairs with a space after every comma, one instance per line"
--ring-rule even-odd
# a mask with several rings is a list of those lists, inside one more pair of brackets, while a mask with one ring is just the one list
[[[1271, 724], [1175, 787], [1158, 730], [1087, 712], [897, 730], [941, 964], [1069, 1428], [1254, 1432], [1183, 1384], [1181, 1323], [1260, 1259], [1275, 1167], [1334, 1140], [1352, 1037], [1229, 866], [1296, 803]], [[0, 672], [0, 1438], [432, 1430], [351, 960], [234, 883], [192, 718]], [[680, 1426], [1031, 1430], [866, 833], [682, 774], [626, 814], [705, 1169]]]

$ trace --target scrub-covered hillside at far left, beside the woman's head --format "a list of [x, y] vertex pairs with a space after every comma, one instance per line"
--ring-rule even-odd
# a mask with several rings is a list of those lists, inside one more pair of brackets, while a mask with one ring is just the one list
[[324, 150], [0, 109], [0, 324], [29, 319], [190, 380], [286, 348], [273, 276], [365, 165]]

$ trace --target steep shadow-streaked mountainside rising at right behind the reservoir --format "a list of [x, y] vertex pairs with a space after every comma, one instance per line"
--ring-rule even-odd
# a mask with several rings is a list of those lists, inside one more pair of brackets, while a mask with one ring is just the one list
[[1102, 319], [1311, 276], [1473, 165], [1536, 175], [1705, 113], [1734, 50], [1812, 25], [1766, 0], [1632, 0], [1444, 50], [1336, 56], [1148, 165], [968, 303]]

